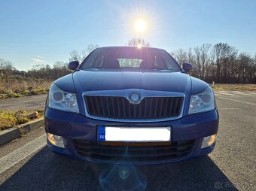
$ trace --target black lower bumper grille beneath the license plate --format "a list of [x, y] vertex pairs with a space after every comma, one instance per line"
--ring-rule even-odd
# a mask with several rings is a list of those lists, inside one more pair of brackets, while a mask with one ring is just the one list
[[192, 151], [194, 140], [155, 146], [113, 146], [74, 140], [73, 145], [78, 155], [87, 160], [150, 163], [186, 158]]

